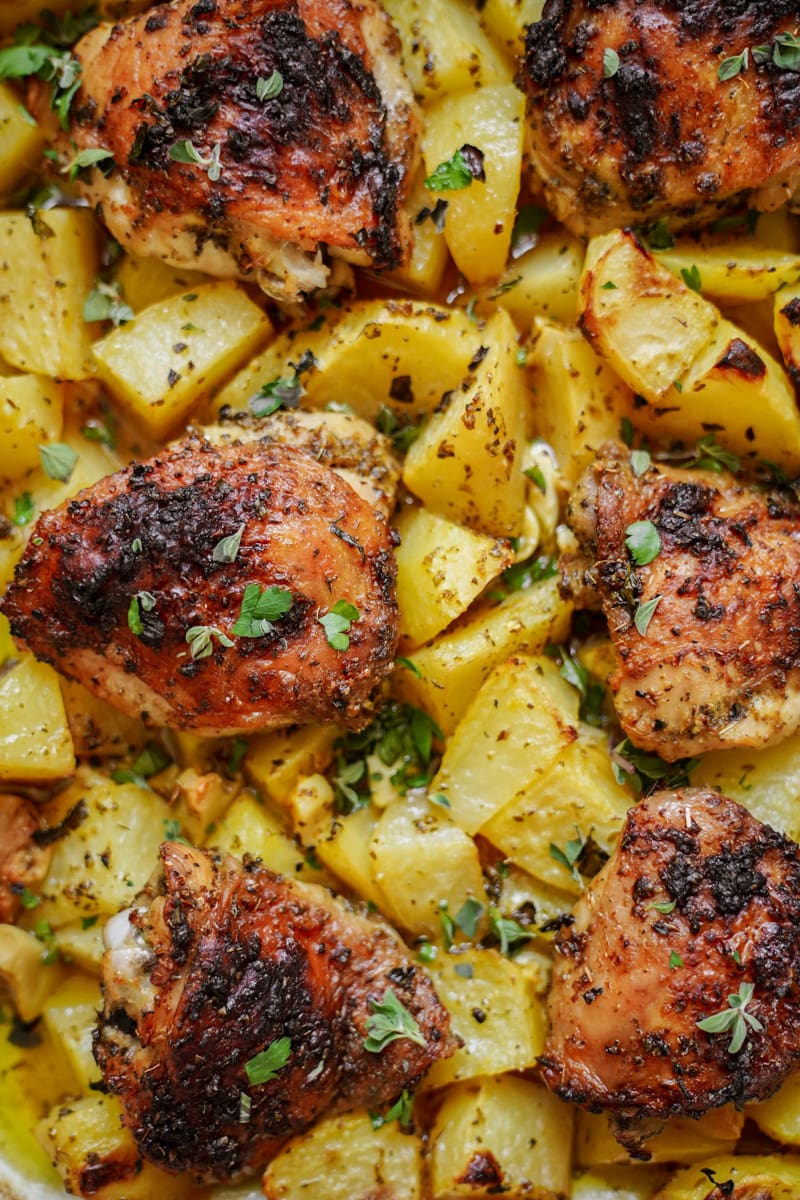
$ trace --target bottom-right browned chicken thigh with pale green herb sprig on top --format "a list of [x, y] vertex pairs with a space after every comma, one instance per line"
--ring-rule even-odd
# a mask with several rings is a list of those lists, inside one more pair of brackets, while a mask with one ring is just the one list
[[800, 850], [733, 800], [650, 796], [573, 917], [541, 1072], [634, 1153], [667, 1117], [765, 1099], [800, 1060]]

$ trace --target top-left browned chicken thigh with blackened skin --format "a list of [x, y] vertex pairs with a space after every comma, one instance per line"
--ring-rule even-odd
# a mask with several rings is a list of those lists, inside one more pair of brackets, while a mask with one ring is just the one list
[[283, 299], [325, 284], [323, 248], [408, 256], [417, 119], [378, 0], [160, 4], [74, 54], [70, 137], [114, 156], [83, 194], [125, 250]]

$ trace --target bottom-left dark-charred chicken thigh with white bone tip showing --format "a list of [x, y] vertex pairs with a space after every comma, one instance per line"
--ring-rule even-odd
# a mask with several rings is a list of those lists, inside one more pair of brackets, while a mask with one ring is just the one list
[[[130, 919], [107, 929], [95, 1037], [145, 1158], [235, 1177], [323, 1112], [384, 1109], [456, 1049], [431, 982], [386, 926], [247, 859], [172, 842], [161, 858]], [[369, 1051], [367, 1022], [389, 990], [420, 1040]], [[245, 1064], [282, 1038], [285, 1067], [251, 1084]]]

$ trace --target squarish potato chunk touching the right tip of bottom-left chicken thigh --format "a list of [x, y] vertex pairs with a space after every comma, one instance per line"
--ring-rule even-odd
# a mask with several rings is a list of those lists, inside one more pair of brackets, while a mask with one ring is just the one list
[[546, 1018], [535, 970], [498, 950], [469, 949], [439, 954], [427, 971], [464, 1044], [433, 1064], [423, 1087], [536, 1064]]

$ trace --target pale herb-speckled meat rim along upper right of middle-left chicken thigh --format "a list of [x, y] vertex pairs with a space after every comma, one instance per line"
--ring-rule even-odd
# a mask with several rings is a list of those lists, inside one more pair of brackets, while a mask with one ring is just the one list
[[399, 461], [389, 438], [353, 413], [279, 409], [259, 418], [223, 409], [219, 424], [206, 425], [201, 432], [215, 445], [259, 439], [307, 450], [317, 462], [341, 475], [386, 520], [395, 510]]

